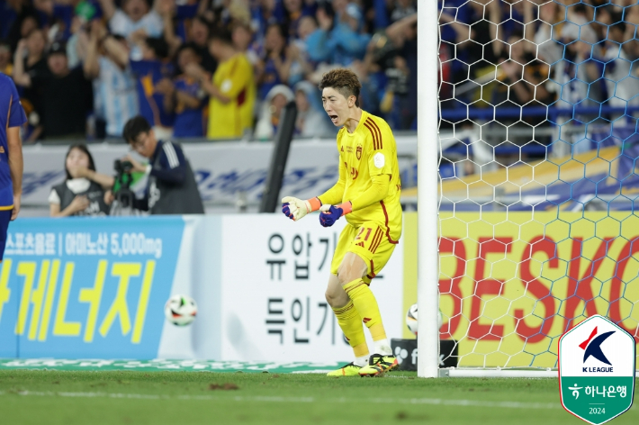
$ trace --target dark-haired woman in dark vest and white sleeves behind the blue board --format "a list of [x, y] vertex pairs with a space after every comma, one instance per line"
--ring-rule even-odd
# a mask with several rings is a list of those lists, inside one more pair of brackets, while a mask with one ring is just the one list
[[109, 214], [104, 194], [112, 187], [113, 177], [95, 171], [94, 158], [85, 145], [68, 149], [65, 172], [65, 181], [53, 186], [49, 194], [51, 217]]

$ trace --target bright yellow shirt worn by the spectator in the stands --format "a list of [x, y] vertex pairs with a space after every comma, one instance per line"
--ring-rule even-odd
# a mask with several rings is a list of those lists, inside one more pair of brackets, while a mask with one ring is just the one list
[[213, 75], [213, 85], [221, 95], [229, 98], [222, 102], [211, 96], [209, 103], [209, 139], [237, 138], [253, 128], [253, 107], [256, 86], [253, 67], [244, 53], [237, 53], [220, 63]]

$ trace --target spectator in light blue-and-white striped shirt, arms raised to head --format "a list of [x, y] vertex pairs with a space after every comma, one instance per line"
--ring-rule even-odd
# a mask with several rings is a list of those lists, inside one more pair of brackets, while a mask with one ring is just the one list
[[94, 79], [94, 113], [105, 122], [107, 138], [121, 139], [124, 124], [139, 113], [136, 81], [128, 55], [129, 46], [121, 35], [109, 34], [100, 21], [92, 23], [86, 76]]

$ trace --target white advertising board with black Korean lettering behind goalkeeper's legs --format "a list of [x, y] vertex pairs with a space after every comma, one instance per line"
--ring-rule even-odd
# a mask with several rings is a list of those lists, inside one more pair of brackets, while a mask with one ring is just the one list
[[[317, 214], [222, 217], [221, 359], [347, 361], [352, 351], [324, 293], [339, 232]], [[401, 338], [403, 244], [371, 288], [389, 338]], [[372, 349], [372, 340], [365, 330]]]

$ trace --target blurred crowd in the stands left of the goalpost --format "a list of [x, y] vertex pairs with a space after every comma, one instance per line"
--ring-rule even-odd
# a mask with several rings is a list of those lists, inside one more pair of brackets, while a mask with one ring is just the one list
[[317, 84], [350, 67], [361, 103], [416, 128], [417, 0], [0, 0], [0, 72], [37, 140], [121, 140], [141, 114], [159, 139], [333, 136]]

